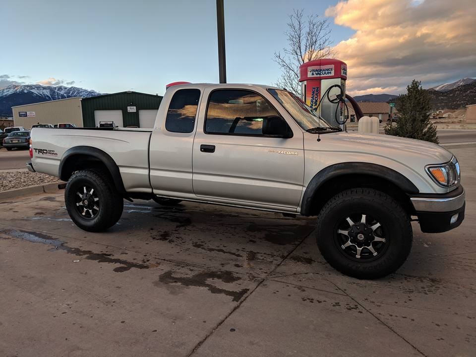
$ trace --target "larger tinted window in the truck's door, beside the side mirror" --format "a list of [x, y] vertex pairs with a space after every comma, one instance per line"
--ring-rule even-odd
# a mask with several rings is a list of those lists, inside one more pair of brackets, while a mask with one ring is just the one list
[[210, 95], [205, 132], [263, 135], [263, 118], [279, 116], [259, 94], [247, 90], [216, 90]]

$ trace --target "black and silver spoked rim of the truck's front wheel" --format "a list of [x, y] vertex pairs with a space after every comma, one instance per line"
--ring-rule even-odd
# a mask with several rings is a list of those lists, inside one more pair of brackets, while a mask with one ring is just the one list
[[340, 220], [334, 229], [334, 239], [342, 254], [358, 262], [376, 260], [388, 248], [388, 234], [380, 220], [363, 213], [353, 213]]

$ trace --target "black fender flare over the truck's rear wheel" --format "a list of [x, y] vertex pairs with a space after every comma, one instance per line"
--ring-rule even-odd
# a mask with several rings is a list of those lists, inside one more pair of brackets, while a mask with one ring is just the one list
[[121, 194], [125, 193], [124, 183], [122, 182], [122, 177], [120, 176], [119, 167], [114, 159], [103, 150], [92, 146], [75, 146], [66, 150], [66, 152], [61, 157], [60, 167], [58, 168], [58, 177], [61, 180], [67, 181], [69, 179], [67, 176], [68, 173], [65, 170], [65, 163], [69, 158], [75, 155], [91, 156], [103, 163], [111, 174], [118, 192]]

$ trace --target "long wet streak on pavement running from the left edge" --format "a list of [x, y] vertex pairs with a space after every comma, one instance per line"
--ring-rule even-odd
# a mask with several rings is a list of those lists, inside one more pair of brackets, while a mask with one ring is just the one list
[[85, 259], [96, 260], [98, 263], [120, 264], [121, 266], [113, 269], [117, 273], [127, 271], [131, 268], [149, 269], [149, 266], [146, 264], [133, 263], [124, 259], [112, 258], [112, 254], [94, 253], [91, 250], [83, 250], [80, 248], [67, 246], [64, 244], [63, 241], [40, 232], [29, 232], [22, 230], [0, 230], [0, 234], [4, 234], [6, 236], [14, 238], [20, 238], [33, 243], [52, 245], [55, 249], [64, 250], [67, 253], [74, 254], [76, 256], [84, 256]]

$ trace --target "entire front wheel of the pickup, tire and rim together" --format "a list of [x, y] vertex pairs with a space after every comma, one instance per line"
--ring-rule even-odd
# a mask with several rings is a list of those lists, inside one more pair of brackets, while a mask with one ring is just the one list
[[410, 219], [401, 205], [371, 188], [348, 189], [332, 197], [319, 213], [316, 234], [327, 262], [359, 279], [395, 272], [413, 241]]

